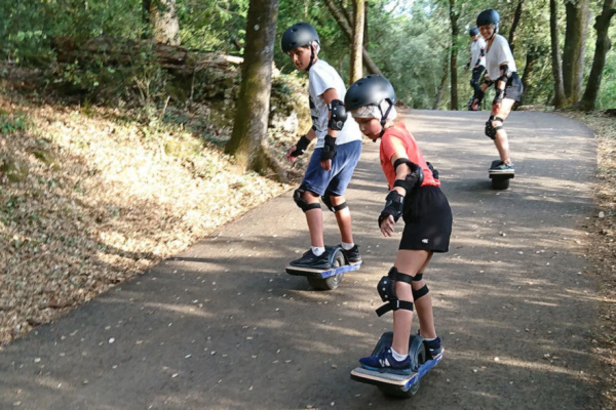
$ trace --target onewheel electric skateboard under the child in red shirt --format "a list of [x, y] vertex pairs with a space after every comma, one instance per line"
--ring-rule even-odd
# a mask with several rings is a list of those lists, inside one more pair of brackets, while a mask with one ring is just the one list
[[[384, 349], [389, 349], [393, 338], [393, 332], [383, 333], [372, 355], [376, 355]], [[408, 354], [411, 357], [411, 374], [409, 375], [402, 376], [358, 367], [351, 371], [351, 379], [375, 385], [387, 396], [403, 398], [414, 396], [419, 390], [419, 379], [442, 360], [443, 352], [440, 352], [436, 357], [432, 357], [424, 344], [423, 337], [411, 334], [408, 341]]]

